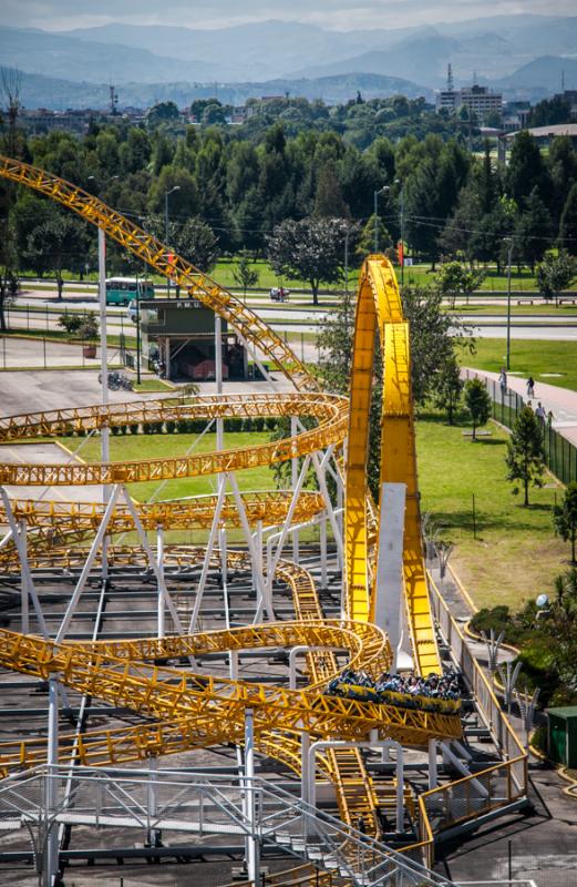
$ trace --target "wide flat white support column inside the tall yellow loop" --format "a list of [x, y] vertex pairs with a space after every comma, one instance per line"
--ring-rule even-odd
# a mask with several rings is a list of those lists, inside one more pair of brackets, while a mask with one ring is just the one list
[[401, 642], [401, 608], [404, 597], [403, 540], [405, 483], [383, 483], [381, 487], [381, 521], [377, 558], [374, 622], [387, 632], [396, 671], [396, 654]]

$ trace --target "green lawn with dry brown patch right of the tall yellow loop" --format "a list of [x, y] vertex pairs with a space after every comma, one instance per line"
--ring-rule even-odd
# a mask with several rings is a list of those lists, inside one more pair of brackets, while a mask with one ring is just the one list
[[527, 598], [550, 591], [566, 569], [569, 549], [555, 537], [550, 514], [561, 488], [546, 475], [547, 488], [532, 489], [532, 504], [524, 508], [505, 479], [507, 435], [491, 422], [491, 437], [473, 443], [463, 436], [465, 427], [450, 427], [439, 414], [419, 418], [421, 507], [442, 528], [439, 537], [455, 544], [450, 563], [475, 603], [517, 609]]

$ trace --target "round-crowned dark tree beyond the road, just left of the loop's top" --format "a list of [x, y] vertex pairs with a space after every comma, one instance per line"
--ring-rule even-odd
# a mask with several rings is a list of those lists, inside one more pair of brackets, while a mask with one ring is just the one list
[[268, 257], [275, 273], [307, 281], [312, 303], [318, 305], [320, 284], [337, 283], [342, 276], [348, 230], [346, 218], [282, 222], [267, 237]]

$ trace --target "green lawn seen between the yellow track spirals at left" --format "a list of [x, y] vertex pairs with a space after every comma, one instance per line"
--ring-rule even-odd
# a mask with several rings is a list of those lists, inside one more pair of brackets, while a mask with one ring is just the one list
[[[196, 440], [197, 435], [111, 435], [111, 461], [132, 461], [144, 459], [163, 459], [174, 456], [184, 456]], [[266, 443], [270, 439], [268, 432], [225, 432], [225, 447], [254, 447]], [[62, 443], [70, 450], [78, 449], [83, 438], [65, 437]], [[208, 432], [195, 447], [193, 452], [212, 452], [216, 448], [216, 436]], [[100, 438], [87, 440], [80, 457], [86, 462], [100, 461]], [[241, 490], [269, 490], [275, 489], [275, 476], [268, 466], [250, 468], [237, 472], [238, 486]], [[152, 497], [155, 499], [178, 499], [184, 496], [200, 496], [216, 491], [216, 477], [182, 478], [167, 481], [158, 495], [159, 483], [133, 483], [130, 487], [131, 496], [141, 502], [146, 502]]]

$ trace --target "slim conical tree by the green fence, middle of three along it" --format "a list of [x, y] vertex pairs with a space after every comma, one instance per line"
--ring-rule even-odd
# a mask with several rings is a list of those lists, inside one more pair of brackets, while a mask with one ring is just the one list
[[[517, 416], [507, 441], [505, 465], [508, 469], [507, 480], [521, 481], [525, 507], [529, 504], [529, 486], [543, 487], [544, 459], [540, 421], [530, 407], [524, 407]], [[516, 496], [518, 492], [519, 488], [514, 487], [513, 495]]]

